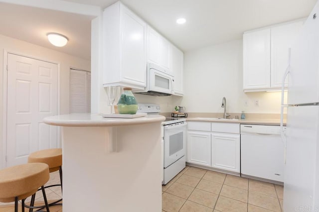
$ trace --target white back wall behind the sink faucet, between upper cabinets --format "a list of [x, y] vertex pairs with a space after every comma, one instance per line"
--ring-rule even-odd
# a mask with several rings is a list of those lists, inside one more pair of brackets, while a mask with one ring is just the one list
[[226, 97], [227, 112], [280, 113], [280, 92], [243, 92], [242, 45], [235, 40], [185, 52], [184, 97], [175, 104], [187, 112], [223, 112]]

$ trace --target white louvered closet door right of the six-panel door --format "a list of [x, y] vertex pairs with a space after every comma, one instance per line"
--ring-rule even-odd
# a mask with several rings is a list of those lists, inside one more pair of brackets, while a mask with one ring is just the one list
[[70, 113], [91, 111], [91, 73], [70, 70]]

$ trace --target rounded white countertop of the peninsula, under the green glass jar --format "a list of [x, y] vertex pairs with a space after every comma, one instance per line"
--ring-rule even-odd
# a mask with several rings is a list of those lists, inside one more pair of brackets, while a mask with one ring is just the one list
[[56, 126], [124, 126], [161, 122], [165, 120], [162, 115], [146, 115], [138, 118], [103, 118], [100, 114], [73, 113], [65, 115], [48, 116], [43, 122]]

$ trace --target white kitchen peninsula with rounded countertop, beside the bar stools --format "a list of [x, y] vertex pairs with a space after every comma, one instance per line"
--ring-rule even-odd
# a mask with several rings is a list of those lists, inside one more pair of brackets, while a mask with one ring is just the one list
[[160, 124], [165, 118], [44, 118], [62, 126], [63, 211], [161, 210]]

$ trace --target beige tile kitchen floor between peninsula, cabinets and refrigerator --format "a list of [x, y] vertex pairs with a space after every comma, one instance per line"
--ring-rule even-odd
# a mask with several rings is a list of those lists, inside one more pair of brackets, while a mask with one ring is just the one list
[[283, 186], [186, 166], [162, 186], [162, 212], [282, 212]]

